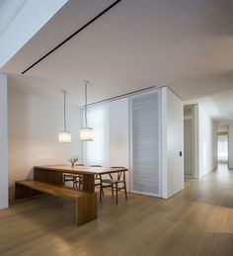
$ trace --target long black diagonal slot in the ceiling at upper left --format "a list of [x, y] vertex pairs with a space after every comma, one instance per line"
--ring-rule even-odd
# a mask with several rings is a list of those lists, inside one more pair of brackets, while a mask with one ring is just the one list
[[48, 55], [50, 55], [53, 51], [55, 51], [57, 48], [59, 48], [61, 45], [63, 45], [64, 43], [67, 43], [68, 41], [70, 41], [73, 37], [75, 37], [76, 35], [78, 35], [81, 31], [83, 31], [84, 29], [86, 29], [88, 26], [90, 26], [92, 23], [94, 23], [97, 19], [99, 19], [102, 15], [104, 15], [105, 13], [107, 13], [108, 11], [110, 11], [113, 7], [116, 6], [116, 4], [118, 4], [119, 2], [121, 2], [122, 0], [117, 0], [116, 2], [114, 2], [112, 5], [110, 5], [109, 7], [107, 7], [104, 11], [102, 11], [100, 14], [98, 14], [95, 18], [93, 18], [91, 21], [89, 21], [87, 24], [85, 24], [82, 28], [80, 28], [79, 30], [77, 30], [75, 33], [73, 33], [71, 36], [69, 36], [67, 39], [65, 39], [63, 42], [59, 43], [58, 45], [56, 45], [54, 48], [52, 48], [51, 50], [49, 50], [46, 54], [44, 54], [43, 56], [41, 56], [39, 58], [39, 60], [37, 60], [35, 63], [33, 63], [31, 66], [29, 66], [28, 68], [26, 68], [21, 74], [25, 74], [26, 72], [28, 72], [31, 68], [33, 68], [34, 66], [36, 66], [41, 60], [43, 60], [45, 57], [47, 57]]

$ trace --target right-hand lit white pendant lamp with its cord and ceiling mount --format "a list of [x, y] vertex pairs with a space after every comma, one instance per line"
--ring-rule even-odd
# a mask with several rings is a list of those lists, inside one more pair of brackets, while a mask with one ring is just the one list
[[85, 85], [85, 105], [84, 105], [84, 118], [85, 118], [85, 127], [80, 129], [80, 140], [81, 141], [93, 141], [94, 140], [94, 129], [88, 128], [87, 122], [87, 86], [89, 82], [84, 80]]

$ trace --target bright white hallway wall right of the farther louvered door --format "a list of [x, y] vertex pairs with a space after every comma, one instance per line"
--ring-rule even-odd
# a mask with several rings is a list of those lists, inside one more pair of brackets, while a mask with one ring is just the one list
[[198, 104], [198, 145], [199, 174], [205, 174], [217, 168], [217, 125]]

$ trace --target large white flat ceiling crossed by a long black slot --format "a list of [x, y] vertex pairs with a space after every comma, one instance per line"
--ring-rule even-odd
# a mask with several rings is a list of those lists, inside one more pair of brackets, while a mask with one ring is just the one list
[[[2, 71], [20, 74], [113, 2], [70, 0]], [[49, 95], [67, 89], [79, 105], [84, 79], [91, 82], [91, 102], [153, 85], [168, 85], [186, 101], [228, 92], [232, 10], [231, 0], [123, 0], [11, 81]]]

